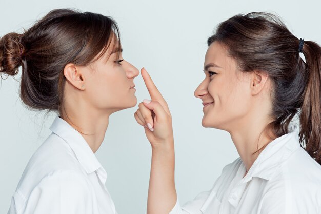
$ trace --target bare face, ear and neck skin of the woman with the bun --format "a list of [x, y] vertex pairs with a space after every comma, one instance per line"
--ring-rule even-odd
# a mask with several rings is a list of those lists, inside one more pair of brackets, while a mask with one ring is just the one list
[[120, 60], [122, 49], [110, 47], [87, 66], [70, 63], [64, 69], [67, 81], [61, 117], [82, 134], [94, 153], [104, 140], [109, 116], [137, 103], [133, 80], [139, 71]]

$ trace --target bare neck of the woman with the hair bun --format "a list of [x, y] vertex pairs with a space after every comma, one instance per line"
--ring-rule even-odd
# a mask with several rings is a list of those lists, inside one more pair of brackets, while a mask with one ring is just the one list
[[[77, 112], [69, 109], [77, 109]], [[86, 104], [77, 104], [77, 108], [65, 107], [65, 111], [61, 117], [83, 136], [95, 153], [105, 138], [110, 113], [99, 112]]]

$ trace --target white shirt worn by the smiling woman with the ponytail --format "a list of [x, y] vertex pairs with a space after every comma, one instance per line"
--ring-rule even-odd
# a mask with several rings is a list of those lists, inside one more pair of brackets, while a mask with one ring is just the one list
[[240, 158], [226, 165], [210, 191], [170, 214], [320, 214], [321, 165], [299, 145], [298, 131], [271, 143], [246, 168]]

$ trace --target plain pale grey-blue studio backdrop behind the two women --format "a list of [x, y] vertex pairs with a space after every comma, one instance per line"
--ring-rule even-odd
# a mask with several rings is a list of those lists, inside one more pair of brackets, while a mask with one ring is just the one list
[[[176, 189], [180, 203], [208, 190], [222, 168], [238, 157], [229, 133], [201, 125], [202, 102], [193, 95], [204, 79], [207, 38], [227, 18], [254, 11], [274, 12], [298, 38], [321, 43], [317, 1], [5, 1], [1, 0], [0, 36], [22, 32], [56, 8], [112, 16], [121, 30], [123, 57], [145, 67], [167, 100], [176, 151]], [[0, 213], [31, 155], [51, 133], [55, 114], [27, 110], [19, 99], [19, 79], [0, 83]], [[149, 99], [144, 82], [135, 79], [138, 103]], [[107, 188], [119, 214], [145, 213], [151, 161], [150, 143], [134, 119], [138, 107], [110, 116], [105, 140], [96, 152], [108, 173]], [[251, 130], [249, 130], [251, 131]]]

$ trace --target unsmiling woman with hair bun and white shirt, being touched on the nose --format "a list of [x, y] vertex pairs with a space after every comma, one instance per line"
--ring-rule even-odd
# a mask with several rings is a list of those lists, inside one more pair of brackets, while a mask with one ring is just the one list
[[52, 134], [31, 157], [11, 200], [13, 213], [113, 213], [107, 173], [94, 153], [110, 114], [136, 105], [139, 71], [122, 57], [110, 17], [50, 11], [22, 34], [0, 39], [0, 74], [22, 67], [20, 96], [57, 112]]

